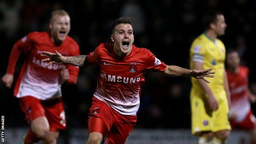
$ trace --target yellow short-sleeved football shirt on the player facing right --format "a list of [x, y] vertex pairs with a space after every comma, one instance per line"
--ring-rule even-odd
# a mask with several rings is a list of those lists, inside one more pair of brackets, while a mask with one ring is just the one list
[[[225, 46], [221, 40], [213, 41], [205, 33], [194, 39], [190, 48], [190, 69], [194, 69], [193, 62], [203, 63], [203, 69], [212, 68], [215, 78], [207, 78], [210, 81], [210, 89], [223, 89]], [[198, 81], [192, 78], [192, 88], [202, 91]]]

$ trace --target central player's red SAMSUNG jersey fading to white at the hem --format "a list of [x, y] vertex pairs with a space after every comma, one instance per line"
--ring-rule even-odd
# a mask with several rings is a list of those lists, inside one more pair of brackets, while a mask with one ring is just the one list
[[125, 115], [135, 115], [139, 109], [146, 71], [164, 71], [167, 67], [149, 50], [134, 45], [131, 53], [121, 59], [110, 43], [101, 43], [87, 55], [87, 62], [100, 66], [94, 96]]

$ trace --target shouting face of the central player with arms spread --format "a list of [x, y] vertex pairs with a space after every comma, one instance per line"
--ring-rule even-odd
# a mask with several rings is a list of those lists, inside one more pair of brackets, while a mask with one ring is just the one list
[[134, 41], [133, 27], [130, 24], [119, 24], [111, 35], [114, 42], [114, 50], [119, 56], [128, 55], [132, 50]]

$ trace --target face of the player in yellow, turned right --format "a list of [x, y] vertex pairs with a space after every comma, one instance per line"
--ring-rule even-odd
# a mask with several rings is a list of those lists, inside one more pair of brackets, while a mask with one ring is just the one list
[[222, 36], [225, 34], [226, 30], [226, 22], [223, 15], [217, 15], [217, 23], [215, 24], [214, 30], [218, 36]]

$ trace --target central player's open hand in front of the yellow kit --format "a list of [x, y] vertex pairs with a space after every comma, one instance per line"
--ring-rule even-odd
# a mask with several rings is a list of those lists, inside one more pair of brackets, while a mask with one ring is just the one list
[[191, 71], [191, 76], [194, 77], [194, 78], [197, 78], [197, 79], [203, 79], [204, 81], [210, 83], [208, 80], [206, 80], [205, 77], [214, 78], [214, 76], [211, 75], [211, 74], [214, 74], [215, 72], [212, 71], [212, 70], [213, 69], [203, 69], [203, 70], [193, 69]]

